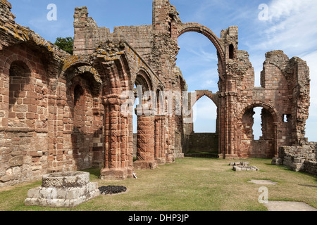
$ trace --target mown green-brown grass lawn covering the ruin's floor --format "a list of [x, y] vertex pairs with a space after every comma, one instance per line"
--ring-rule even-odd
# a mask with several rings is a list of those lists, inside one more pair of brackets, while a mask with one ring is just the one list
[[128, 192], [100, 195], [75, 208], [26, 207], [27, 191], [41, 181], [0, 188], [1, 211], [264, 211], [260, 185], [251, 179], [278, 182], [268, 188], [269, 200], [300, 201], [317, 208], [317, 176], [271, 165], [271, 160], [249, 159], [260, 172], [234, 172], [232, 160], [183, 158], [154, 170], [137, 170], [137, 179], [99, 180], [100, 169], [87, 169], [99, 186], [122, 185]]

